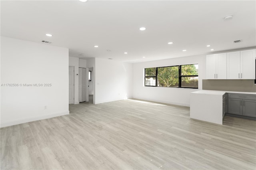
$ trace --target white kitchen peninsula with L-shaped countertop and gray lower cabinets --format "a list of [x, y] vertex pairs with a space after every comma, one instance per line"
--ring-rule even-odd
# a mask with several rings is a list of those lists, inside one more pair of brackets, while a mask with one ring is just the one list
[[[235, 107], [229, 109], [227, 107], [228, 94], [234, 96], [233, 98], [236, 97], [236, 94], [240, 94], [238, 97], [241, 98], [229, 99], [230, 104], [234, 101], [237, 102], [234, 103]], [[232, 110], [236, 107], [239, 107], [237, 112]], [[236, 115], [256, 117], [256, 92], [199, 90], [190, 94], [190, 118], [192, 119], [222, 125], [222, 119], [229, 111]]]

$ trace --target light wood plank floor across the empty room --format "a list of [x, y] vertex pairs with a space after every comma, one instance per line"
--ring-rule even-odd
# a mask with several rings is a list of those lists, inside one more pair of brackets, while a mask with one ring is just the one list
[[1, 128], [1, 169], [256, 168], [256, 121], [189, 118], [138, 100], [70, 105], [70, 115]]

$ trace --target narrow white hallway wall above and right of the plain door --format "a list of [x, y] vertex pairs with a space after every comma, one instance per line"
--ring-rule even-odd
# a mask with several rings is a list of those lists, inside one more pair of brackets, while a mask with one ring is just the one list
[[78, 73], [79, 73], [79, 58], [76, 58], [76, 57], [69, 57], [68, 59], [69, 63], [68, 65], [69, 66], [73, 66], [74, 67], [74, 71], [75, 71], [75, 77], [74, 77], [74, 84], [75, 84], [75, 87], [74, 87], [74, 98], [75, 98], [75, 101], [74, 101], [74, 104], [79, 104], [79, 82], [78, 82]]

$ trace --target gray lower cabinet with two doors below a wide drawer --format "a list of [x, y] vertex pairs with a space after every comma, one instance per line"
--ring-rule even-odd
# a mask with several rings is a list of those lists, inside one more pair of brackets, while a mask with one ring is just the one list
[[256, 95], [228, 93], [228, 113], [256, 117]]

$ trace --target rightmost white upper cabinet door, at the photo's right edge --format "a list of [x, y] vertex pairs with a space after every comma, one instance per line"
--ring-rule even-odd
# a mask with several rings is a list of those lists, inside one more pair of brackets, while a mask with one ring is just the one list
[[240, 51], [241, 79], [255, 79], [255, 49]]

